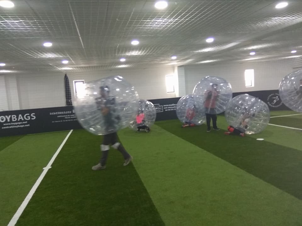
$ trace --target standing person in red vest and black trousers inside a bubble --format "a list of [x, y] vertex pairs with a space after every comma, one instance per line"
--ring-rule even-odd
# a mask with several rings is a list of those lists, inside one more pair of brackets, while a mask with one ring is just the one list
[[212, 89], [209, 91], [206, 91], [205, 96], [206, 99], [204, 101], [204, 107], [206, 109], [206, 120], [207, 120], [207, 132], [211, 132], [211, 119], [213, 123], [213, 129], [219, 130], [217, 127], [217, 116], [215, 114], [215, 108], [216, 108], [216, 101], [219, 96], [219, 91], [217, 90], [218, 85], [216, 83], [212, 84]]

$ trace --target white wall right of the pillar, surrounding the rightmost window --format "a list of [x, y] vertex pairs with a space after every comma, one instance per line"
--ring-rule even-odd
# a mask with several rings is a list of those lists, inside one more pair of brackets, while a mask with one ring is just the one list
[[[205, 76], [217, 76], [226, 79], [231, 83], [233, 92], [279, 89], [282, 78], [298, 70], [293, 69], [294, 66], [299, 65], [288, 60], [185, 66], [186, 94], [192, 94], [196, 83]], [[244, 71], [246, 69], [254, 69], [254, 87], [245, 87]]]

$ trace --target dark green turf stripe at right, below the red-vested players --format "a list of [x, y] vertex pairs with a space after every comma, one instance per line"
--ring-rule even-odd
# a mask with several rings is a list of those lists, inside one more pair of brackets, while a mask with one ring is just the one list
[[256, 141], [248, 136], [227, 136], [223, 134], [224, 131], [207, 133], [205, 125], [181, 128], [178, 120], [159, 121], [156, 124], [261, 180], [302, 199], [301, 151], [266, 141]]

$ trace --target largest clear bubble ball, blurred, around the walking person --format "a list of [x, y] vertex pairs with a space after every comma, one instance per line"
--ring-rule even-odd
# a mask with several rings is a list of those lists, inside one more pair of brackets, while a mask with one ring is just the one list
[[83, 85], [75, 101], [81, 126], [95, 135], [117, 132], [136, 117], [138, 94], [121, 76], [111, 76]]

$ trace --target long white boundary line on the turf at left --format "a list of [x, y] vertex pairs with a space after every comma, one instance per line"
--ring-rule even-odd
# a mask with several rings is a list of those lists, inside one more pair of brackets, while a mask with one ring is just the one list
[[67, 136], [65, 137], [64, 141], [61, 143], [60, 147], [58, 148], [58, 150], [56, 151], [56, 153], [54, 153], [53, 157], [50, 159], [49, 163], [47, 164], [46, 167], [43, 168], [43, 172], [42, 174], [39, 176], [38, 180], [36, 181], [36, 183], [34, 184], [34, 186], [32, 186], [31, 190], [29, 191], [28, 195], [25, 197], [24, 201], [22, 202], [21, 206], [18, 208], [17, 212], [15, 213], [15, 215], [13, 216], [13, 218], [10, 220], [10, 222], [8, 223], [7, 226], [14, 226], [17, 221], [19, 220], [21, 214], [23, 213], [25, 207], [27, 206], [28, 202], [31, 200], [31, 197], [33, 196], [33, 194], [35, 193], [35, 191], [37, 190], [38, 186], [40, 185], [41, 181], [43, 180], [44, 176], [46, 175], [47, 171], [51, 168], [51, 165], [53, 164], [53, 161], [56, 159], [56, 157], [58, 156], [59, 152], [61, 151], [61, 149], [63, 148], [64, 144], [66, 143], [68, 137], [70, 136], [71, 132], [73, 130], [70, 130], [70, 132], [67, 134]]

